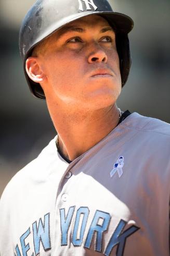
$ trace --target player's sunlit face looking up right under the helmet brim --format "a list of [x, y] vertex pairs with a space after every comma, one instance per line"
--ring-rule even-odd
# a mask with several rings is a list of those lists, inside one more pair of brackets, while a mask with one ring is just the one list
[[100, 16], [73, 21], [51, 35], [38, 58], [47, 102], [98, 109], [113, 105], [121, 92], [115, 33]]

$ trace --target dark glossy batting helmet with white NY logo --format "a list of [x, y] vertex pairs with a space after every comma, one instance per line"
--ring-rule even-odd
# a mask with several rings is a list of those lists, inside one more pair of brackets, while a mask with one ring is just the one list
[[19, 34], [24, 73], [34, 96], [45, 99], [40, 84], [33, 82], [25, 70], [25, 62], [33, 48], [69, 22], [88, 15], [102, 16], [116, 28], [116, 47], [124, 86], [131, 65], [128, 33], [133, 29], [134, 22], [130, 17], [115, 13], [107, 0], [37, 0], [25, 16]]

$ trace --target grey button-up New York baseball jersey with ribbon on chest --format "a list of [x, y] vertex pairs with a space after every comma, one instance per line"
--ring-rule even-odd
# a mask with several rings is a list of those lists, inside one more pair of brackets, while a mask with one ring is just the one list
[[1, 256], [168, 256], [169, 150], [137, 113], [71, 163], [53, 139], [4, 190]]

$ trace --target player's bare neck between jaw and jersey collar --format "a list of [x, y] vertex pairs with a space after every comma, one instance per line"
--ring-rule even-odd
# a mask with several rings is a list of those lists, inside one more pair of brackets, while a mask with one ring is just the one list
[[[58, 113], [62, 113], [58, 114]], [[94, 112], [51, 115], [58, 132], [58, 147], [62, 154], [73, 161], [106, 137], [120, 119], [116, 104]]]

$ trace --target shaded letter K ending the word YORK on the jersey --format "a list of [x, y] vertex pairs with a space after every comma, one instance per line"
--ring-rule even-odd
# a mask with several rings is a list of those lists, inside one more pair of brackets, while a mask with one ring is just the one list
[[122, 233], [126, 224], [127, 222], [123, 220], [120, 221], [119, 225], [116, 227], [108, 243], [108, 246], [106, 248], [106, 251], [104, 252], [104, 255], [109, 256], [113, 247], [117, 245], [116, 256], [123, 256], [127, 237], [129, 237], [139, 229], [138, 227], [133, 225], [132, 227], [125, 230], [124, 233]]

